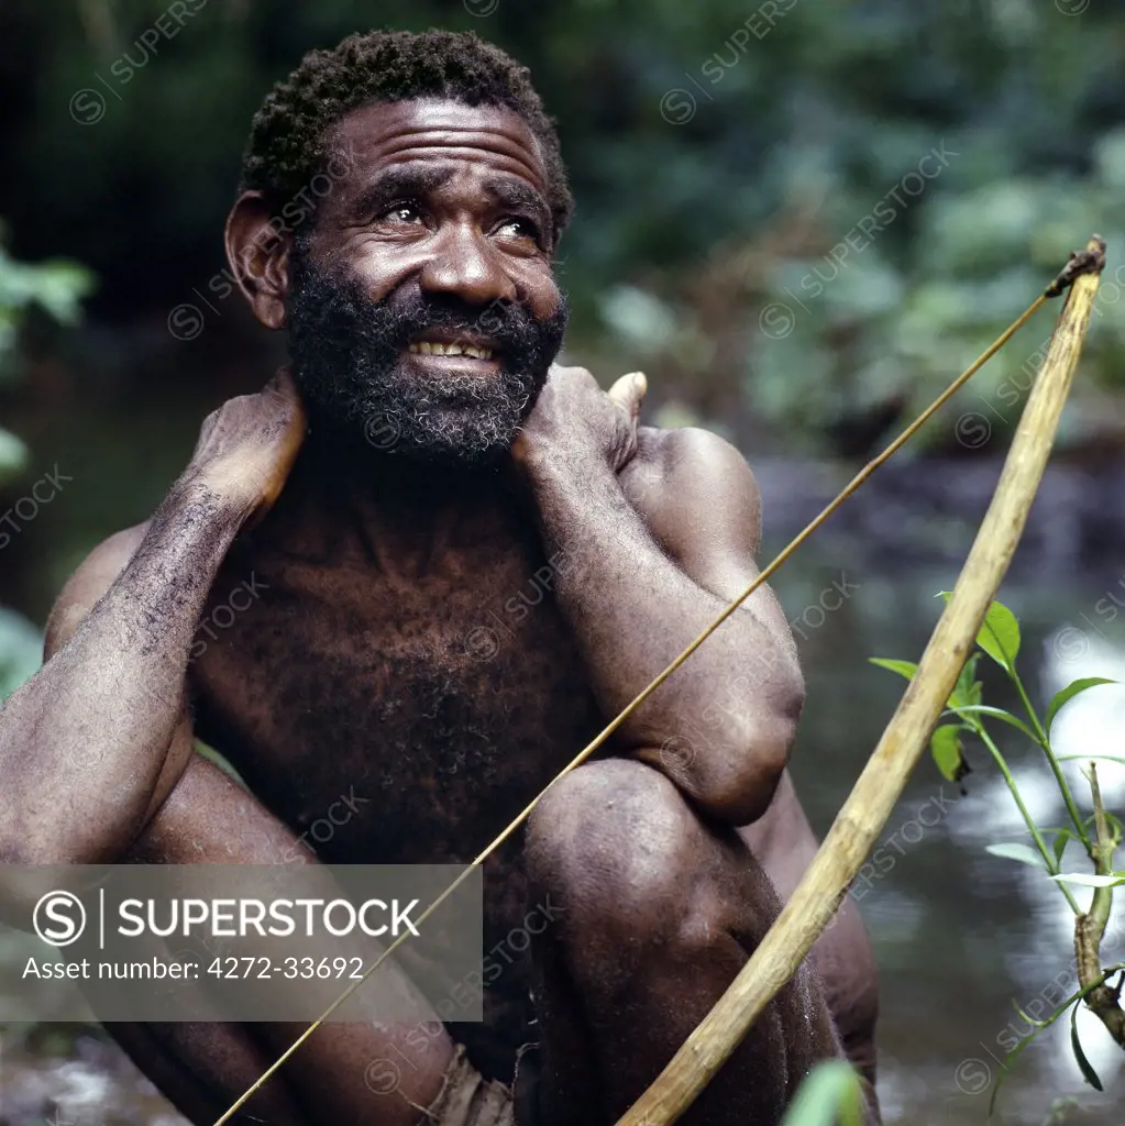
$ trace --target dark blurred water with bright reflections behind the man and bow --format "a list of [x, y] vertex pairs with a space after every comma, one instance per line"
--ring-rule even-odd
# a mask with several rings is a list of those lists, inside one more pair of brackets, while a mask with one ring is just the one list
[[[867, 658], [920, 655], [940, 607], [934, 595], [952, 587], [997, 471], [998, 463], [983, 459], [905, 466], [841, 512], [775, 583], [807, 679], [793, 772], [818, 831], [830, 824], [904, 687]], [[154, 473], [151, 485], [158, 497], [162, 473]], [[843, 476], [833, 468], [760, 467], [767, 547], [780, 546]], [[1108, 473], [1052, 471], [1001, 588], [1021, 620], [1019, 665], [1039, 706], [1077, 677], [1125, 680], [1125, 614], [1118, 619], [1110, 599], [1116, 593], [1125, 604], [1125, 520], [1120, 531], [1106, 525], [1125, 490], [1111, 488], [1113, 480]], [[60, 511], [59, 527], [77, 515]], [[119, 522], [136, 518], [131, 513]], [[56, 587], [55, 579], [44, 586]], [[33, 605], [38, 598], [36, 589]], [[1015, 706], [999, 671], [982, 672], [985, 701]], [[1123, 718], [1125, 688], [1095, 689], [1057, 722], [1056, 750], [1123, 754]], [[995, 732], [1033, 814], [1042, 825], [1061, 824], [1046, 767], [1010, 734]], [[966, 796], [943, 781], [928, 760], [919, 766], [874, 854], [882, 857], [880, 869], [854, 890], [881, 971], [881, 1094], [887, 1123], [983, 1124], [1007, 1054], [1027, 1027], [1014, 1002], [1046, 1016], [1060, 990], [1069, 994], [1075, 988], [1069, 909], [1042, 873], [985, 854], [991, 841], [1027, 838], [986, 752], [970, 744], [967, 754], [974, 769]], [[1077, 769], [1069, 767], [1068, 774], [1087, 807]], [[1125, 770], [1104, 763], [1100, 776], [1109, 808], [1120, 813]], [[1078, 869], [1079, 857], [1069, 859]], [[1079, 890], [1079, 901], [1087, 894]], [[1107, 964], [1125, 960], [1123, 932], [1118, 912], [1105, 945]], [[1070, 1053], [1069, 1020], [1062, 1020], [1007, 1078], [999, 1121], [1125, 1121], [1122, 1052], [1089, 1013], [1079, 1015], [1078, 1029], [1106, 1092], [1083, 1084]], [[0, 1121], [11, 1126], [51, 1120], [56, 1107], [57, 1120], [74, 1126], [177, 1120], [92, 1027], [8, 1029], [0, 1067], [8, 1108]], [[1070, 1097], [1074, 1102], [1052, 1117], [1055, 1100]]]

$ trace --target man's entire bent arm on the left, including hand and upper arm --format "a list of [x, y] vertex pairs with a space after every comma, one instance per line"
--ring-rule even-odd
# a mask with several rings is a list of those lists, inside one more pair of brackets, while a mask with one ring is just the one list
[[102, 545], [68, 584], [50, 660], [0, 711], [0, 860], [117, 858], [176, 784], [191, 754], [196, 624], [226, 549], [276, 500], [304, 434], [285, 368], [227, 400], [136, 549]]

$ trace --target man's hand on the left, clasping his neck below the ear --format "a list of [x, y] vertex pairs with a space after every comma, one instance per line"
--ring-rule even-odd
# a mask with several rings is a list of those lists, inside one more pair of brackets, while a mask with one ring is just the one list
[[288, 367], [253, 395], [208, 414], [180, 477], [230, 501], [243, 519], [260, 517], [280, 495], [304, 441], [307, 419]]

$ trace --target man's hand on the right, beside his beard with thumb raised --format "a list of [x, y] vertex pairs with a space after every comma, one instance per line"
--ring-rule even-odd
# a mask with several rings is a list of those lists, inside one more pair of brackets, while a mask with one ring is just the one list
[[648, 388], [644, 375], [623, 375], [608, 392], [584, 367], [552, 365], [546, 385], [516, 441], [517, 464], [591, 454], [615, 473], [636, 453], [636, 420]]

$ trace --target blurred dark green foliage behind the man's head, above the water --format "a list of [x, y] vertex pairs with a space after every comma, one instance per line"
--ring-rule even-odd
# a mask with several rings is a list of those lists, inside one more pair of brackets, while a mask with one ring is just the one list
[[[572, 355], [605, 378], [643, 365], [664, 418], [756, 447], [831, 452], [841, 418], [928, 401], [1092, 231], [1110, 267], [1122, 261], [1120, 5], [187, 8], [169, 23], [163, 0], [8, 0], [0, 17], [19, 48], [0, 78], [17, 170], [0, 212], [36, 256], [89, 261], [106, 280], [96, 309], [118, 321], [167, 313], [222, 267], [253, 110], [305, 51], [370, 26], [471, 28], [532, 68], [579, 204], [560, 261]], [[919, 194], [899, 187], [905, 205], [857, 238], [934, 146], [956, 155]], [[833, 265], [849, 233], [866, 244]], [[809, 300], [803, 283], [829, 274]], [[1087, 385], [1120, 382], [1119, 294], [1107, 285]], [[767, 320], [778, 303], [793, 314], [785, 333]], [[1015, 422], [1021, 366], [1048, 331], [1044, 316], [979, 377], [999, 427]], [[1093, 402], [1072, 428], [1106, 425]], [[940, 429], [929, 434], [948, 441]]]

